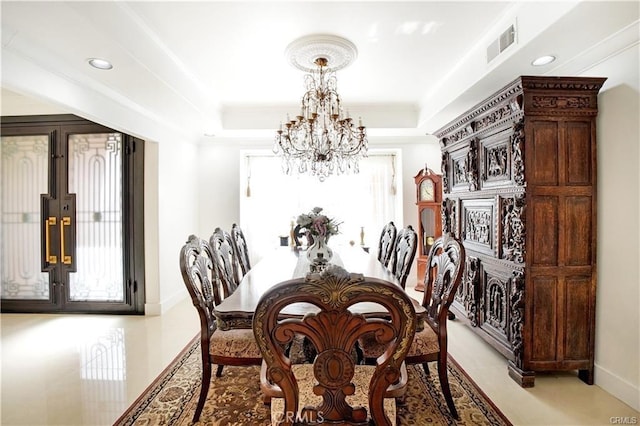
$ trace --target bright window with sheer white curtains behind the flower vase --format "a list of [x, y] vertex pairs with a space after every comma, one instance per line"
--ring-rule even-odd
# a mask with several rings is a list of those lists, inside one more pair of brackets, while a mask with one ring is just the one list
[[283, 174], [281, 159], [268, 153], [244, 153], [242, 159], [240, 222], [254, 263], [280, 244], [280, 236], [289, 235], [300, 213], [314, 207], [342, 222], [331, 245], [360, 244], [363, 229], [365, 246], [372, 253], [384, 224], [398, 223], [402, 216], [396, 152], [370, 151], [360, 162], [359, 174], [330, 176], [324, 182]]

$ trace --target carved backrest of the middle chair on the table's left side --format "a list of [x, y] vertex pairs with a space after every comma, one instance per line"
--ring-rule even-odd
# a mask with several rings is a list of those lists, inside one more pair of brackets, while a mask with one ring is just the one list
[[209, 239], [209, 245], [213, 255], [213, 279], [222, 288], [223, 298], [229, 297], [240, 282], [231, 235], [223, 229], [216, 228]]

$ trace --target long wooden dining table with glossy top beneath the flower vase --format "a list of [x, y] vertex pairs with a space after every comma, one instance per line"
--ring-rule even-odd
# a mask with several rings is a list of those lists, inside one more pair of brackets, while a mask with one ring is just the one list
[[[396, 277], [382, 265], [378, 259], [359, 246], [332, 247], [331, 264], [343, 267], [348, 272], [359, 273], [400, 285]], [[306, 251], [299, 247], [278, 247], [256, 263], [242, 278], [238, 288], [219, 303], [213, 313], [217, 326], [221, 330], [233, 328], [251, 328], [253, 313], [262, 295], [274, 285], [294, 278], [306, 276], [311, 271]], [[425, 308], [413, 299], [419, 327], [426, 316]], [[319, 308], [307, 303], [297, 303], [285, 311], [287, 316], [304, 316], [309, 312], [317, 312]], [[358, 303], [353, 305], [353, 312], [366, 316], [386, 314], [385, 308], [376, 303]]]

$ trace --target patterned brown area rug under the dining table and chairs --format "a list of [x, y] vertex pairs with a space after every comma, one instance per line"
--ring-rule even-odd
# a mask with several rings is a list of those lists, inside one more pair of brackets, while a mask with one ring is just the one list
[[[433, 363], [432, 363], [433, 364]], [[449, 384], [460, 420], [453, 419], [442, 397], [435, 365], [429, 376], [421, 366], [408, 366], [409, 387], [398, 404], [397, 424], [511, 425], [489, 398], [449, 357]], [[215, 367], [214, 367], [215, 373]], [[115, 422], [125, 425], [190, 425], [200, 392], [200, 341], [194, 339]], [[262, 404], [260, 367], [225, 367], [214, 377], [197, 425], [269, 425], [271, 415]]]

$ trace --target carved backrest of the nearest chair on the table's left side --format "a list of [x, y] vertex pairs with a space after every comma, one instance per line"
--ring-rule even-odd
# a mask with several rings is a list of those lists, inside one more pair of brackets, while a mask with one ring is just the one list
[[[213, 309], [222, 299], [221, 289], [212, 281], [213, 260], [209, 243], [190, 235], [180, 250], [180, 271], [193, 306], [200, 317], [201, 341], [208, 347], [216, 329]], [[204, 343], [203, 343], [204, 344]]]

